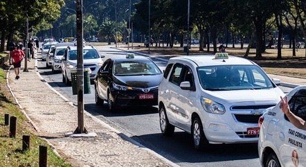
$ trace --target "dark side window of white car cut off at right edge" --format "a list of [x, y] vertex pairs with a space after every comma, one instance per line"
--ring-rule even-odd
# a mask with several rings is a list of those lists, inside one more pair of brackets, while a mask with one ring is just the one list
[[[300, 89], [299, 91], [292, 96], [289, 100], [288, 105], [290, 107], [291, 112], [303, 118], [306, 121], [306, 90]], [[286, 120], [288, 121], [287, 116], [285, 116]]]

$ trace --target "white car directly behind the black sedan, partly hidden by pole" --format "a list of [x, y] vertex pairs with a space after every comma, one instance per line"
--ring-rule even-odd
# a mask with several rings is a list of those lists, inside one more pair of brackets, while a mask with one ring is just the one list
[[[102, 58], [104, 55], [100, 55], [98, 50], [93, 46], [83, 47], [83, 65], [84, 69], [91, 69], [90, 80], [93, 81], [96, 78], [98, 70], [102, 66]], [[68, 46], [62, 57], [62, 82], [66, 82], [67, 85], [71, 85], [71, 71], [77, 69], [77, 46]]]

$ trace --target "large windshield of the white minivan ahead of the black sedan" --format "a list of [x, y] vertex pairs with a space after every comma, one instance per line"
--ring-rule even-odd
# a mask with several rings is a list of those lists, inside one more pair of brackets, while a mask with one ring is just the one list
[[255, 65], [199, 67], [197, 74], [201, 87], [210, 91], [276, 87], [267, 74]]

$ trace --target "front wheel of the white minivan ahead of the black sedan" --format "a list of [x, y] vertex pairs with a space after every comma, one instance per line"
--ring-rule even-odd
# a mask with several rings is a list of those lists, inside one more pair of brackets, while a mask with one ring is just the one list
[[192, 122], [192, 141], [196, 150], [204, 150], [205, 146], [208, 147], [208, 141], [205, 137], [203, 125], [199, 117], [196, 117]]

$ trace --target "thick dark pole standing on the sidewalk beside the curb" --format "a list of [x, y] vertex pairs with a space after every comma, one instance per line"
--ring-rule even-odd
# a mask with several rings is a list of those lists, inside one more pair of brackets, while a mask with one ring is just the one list
[[83, 64], [83, 12], [82, 0], [76, 1], [76, 23], [77, 23], [77, 91], [78, 91], [78, 128], [74, 133], [87, 133], [84, 128], [84, 64]]

